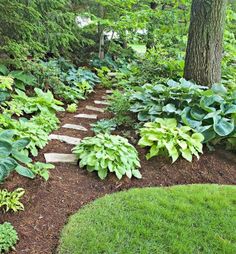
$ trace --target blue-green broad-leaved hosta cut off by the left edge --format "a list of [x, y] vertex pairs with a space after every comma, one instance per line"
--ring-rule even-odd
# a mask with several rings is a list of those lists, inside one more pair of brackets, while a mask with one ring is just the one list
[[16, 132], [6, 130], [0, 132], [0, 181], [3, 181], [12, 171], [33, 178], [33, 173], [22, 164], [31, 162], [25, 148], [29, 145], [28, 138], [14, 140]]

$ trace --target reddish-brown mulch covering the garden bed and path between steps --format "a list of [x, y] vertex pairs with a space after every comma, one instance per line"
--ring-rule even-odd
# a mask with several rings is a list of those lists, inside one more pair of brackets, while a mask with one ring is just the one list
[[[105, 95], [102, 88], [96, 89], [88, 100], [80, 102], [78, 113], [90, 113], [86, 105], [93, 105], [94, 100]], [[109, 118], [109, 113], [96, 113], [99, 119]], [[61, 125], [65, 123], [82, 124], [89, 128], [89, 123], [96, 120], [74, 118], [75, 114], [61, 113]], [[93, 133], [60, 128], [57, 134], [71, 135], [78, 138], [91, 136]], [[37, 161], [44, 161], [43, 154], [47, 152], [70, 153], [72, 146], [59, 141], [51, 141], [40, 151]], [[12, 253], [50, 254], [56, 253], [60, 231], [70, 215], [74, 214], [84, 204], [105, 194], [126, 190], [133, 187], [170, 186], [193, 183], [236, 184], [236, 156], [223, 149], [215, 152], [206, 151], [200, 160], [189, 163], [178, 160], [171, 164], [169, 159], [145, 159], [145, 149], [137, 147], [141, 159], [142, 180], [127, 178], [118, 181], [114, 175], [101, 181], [95, 173], [88, 173], [76, 165], [57, 164], [51, 171], [48, 182], [39, 178], [29, 180], [12, 174], [1, 185], [2, 188], [13, 190], [23, 187], [26, 194], [23, 198], [25, 211], [17, 214], [0, 212], [0, 223], [11, 222], [19, 233], [20, 241], [16, 251]]]

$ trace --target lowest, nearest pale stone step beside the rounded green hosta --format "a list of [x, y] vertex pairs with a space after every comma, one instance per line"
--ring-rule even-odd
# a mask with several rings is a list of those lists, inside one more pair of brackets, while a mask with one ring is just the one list
[[76, 165], [78, 162], [75, 154], [45, 153], [44, 158], [47, 163], [70, 163]]

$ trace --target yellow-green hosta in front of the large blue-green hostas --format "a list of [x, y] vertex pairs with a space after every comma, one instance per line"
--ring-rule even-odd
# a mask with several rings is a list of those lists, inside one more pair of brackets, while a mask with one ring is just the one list
[[140, 131], [139, 145], [151, 147], [147, 159], [168, 155], [175, 162], [182, 155], [191, 162], [193, 155], [199, 158], [199, 153], [202, 153], [204, 136], [188, 126], [177, 127], [174, 118], [157, 118], [155, 122], [146, 123], [144, 126]]

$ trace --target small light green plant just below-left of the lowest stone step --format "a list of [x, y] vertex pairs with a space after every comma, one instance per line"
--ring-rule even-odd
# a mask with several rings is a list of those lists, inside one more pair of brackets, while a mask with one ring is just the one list
[[41, 176], [45, 181], [48, 181], [50, 174], [49, 171], [54, 169], [55, 166], [49, 163], [35, 162], [27, 164], [28, 168], [34, 173], [34, 175]]

